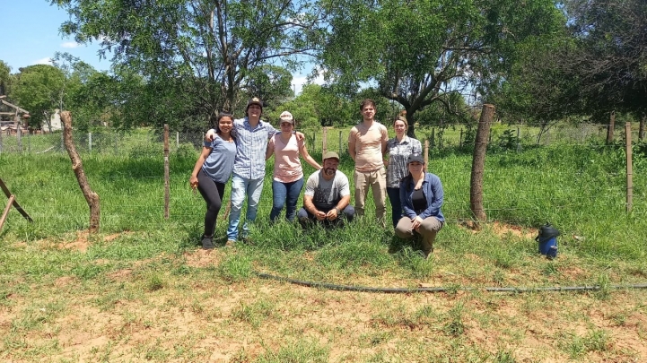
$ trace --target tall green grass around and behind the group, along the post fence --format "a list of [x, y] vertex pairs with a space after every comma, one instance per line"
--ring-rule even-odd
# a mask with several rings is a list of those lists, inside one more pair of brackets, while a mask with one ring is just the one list
[[[415, 246], [393, 238], [392, 229], [380, 228], [373, 218], [371, 197], [366, 217], [343, 229], [304, 231], [284, 220], [269, 223], [270, 160], [251, 234], [253, 244], [241, 245], [225, 259], [220, 274], [239, 281], [249, 279], [253, 268], [305, 280], [407, 286], [442, 271], [453, 273], [445, 281], [448, 285], [513, 284], [518, 281], [513, 281], [511, 272], [520, 269], [527, 271], [524, 282], [529, 284], [586, 282], [559, 273], [573, 265], [590, 269], [588, 282], [593, 283], [596, 271], [602, 269], [610, 269], [613, 283], [642, 281], [647, 276], [643, 262], [647, 255], [643, 243], [647, 235], [647, 163], [642, 161], [643, 154], [634, 156], [634, 211], [626, 213], [622, 148], [563, 144], [526, 147], [520, 153], [494, 151], [485, 161], [485, 212], [489, 220], [514, 225], [524, 236], [502, 234], [491, 225], [480, 233], [462, 226], [471, 219], [471, 154], [459, 148], [433, 151], [430, 158], [428, 169], [441, 177], [445, 189], [447, 223], [429, 262], [415, 254]], [[316, 159], [321, 157], [318, 151], [312, 154]], [[0, 256], [5, 262], [0, 267], [2, 280], [9, 281], [15, 274], [39, 279], [69, 273], [92, 279], [135, 261], [197, 248], [205, 204], [188, 187], [196, 159], [196, 151], [182, 148], [171, 155], [170, 219], [164, 220], [161, 157], [85, 155], [83, 166], [90, 185], [101, 196], [101, 236], [91, 237], [87, 252], [80, 253], [49, 247], [74, 241], [89, 219], [66, 155], [0, 154], [5, 183], [34, 219], [29, 223], [12, 210], [0, 230]], [[344, 155], [339, 168], [352, 176], [353, 167], [353, 161]], [[306, 175], [313, 171], [305, 163], [304, 168]], [[353, 178], [349, 179], [352, 183]], [[546, 221], [562, 231], [560, 258], [551, 263], [536, 258], [537, 243], [532, 239]], [[225, 228], [221, 216], [216, 242], [224, 242]], [[117, 233], [116, 239], [102, 238]], [[573, 235], [582, 238], [573, 239]], [[22, 254], [16, 243], [26, 243], [28, 255]], [[97, 260], [107, 262], [92, 263]], [[556, 267], [547, 268], [546, 264]], [[158, 280], [154, 278], [149, 285], [163, 286]]]

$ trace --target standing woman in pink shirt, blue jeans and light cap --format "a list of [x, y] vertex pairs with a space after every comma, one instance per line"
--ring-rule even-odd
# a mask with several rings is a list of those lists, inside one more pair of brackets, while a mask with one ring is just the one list
[[315, 169], [321, 169], [317, 161], [312, 159], [305, 147], [305, 141], [297, 141], [293, 134], [294, 117], [288, 111], [281, 116], [281, 133], [275, 134], [267, 143], [265, 160], [275, 154], [274, 178], [272, 179], [272, 212], [269, 219], [278, 220], [279, 214], [285, 209], [285, 218], [294, 220], [296, 203], [303, 187], [303, 169], [299, 154]]

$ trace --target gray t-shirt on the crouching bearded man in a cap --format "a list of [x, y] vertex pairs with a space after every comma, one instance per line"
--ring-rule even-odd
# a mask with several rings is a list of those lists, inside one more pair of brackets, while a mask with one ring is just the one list
[[319, 210], [335, 208], [342, 197], [351, 194], [348, 177], [337, 170], [335, 177], [326, 180], [321, 176], [323, 170], [312, 173], [305, 185], [305, 195], [312, 197], [312, 203]]

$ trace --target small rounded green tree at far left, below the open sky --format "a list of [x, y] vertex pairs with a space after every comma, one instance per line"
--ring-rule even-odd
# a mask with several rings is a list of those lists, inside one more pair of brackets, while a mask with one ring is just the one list
[[19, 69], [12, 88], [12, 98], [30, 111], [30, 125], [45, 123], [51, 131], [51, 116], [62, 104], [65, 74], [52, 65], [30, 65]]

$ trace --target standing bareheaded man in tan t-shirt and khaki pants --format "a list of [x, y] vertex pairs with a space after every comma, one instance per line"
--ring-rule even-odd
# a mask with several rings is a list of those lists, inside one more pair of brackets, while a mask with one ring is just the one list
[[360, 105], [363, 121], [354, 125], [348, 135], [348, 152], [355, 161], [355, 213], [364, 214], [369, 186], [375, 201], [375, 216], [383, 224], [386, 217], [387, 181], [382, 156], [387, 150], [389, 133], [386, 126], [375, 121], [375, 102], [364, 99]]

